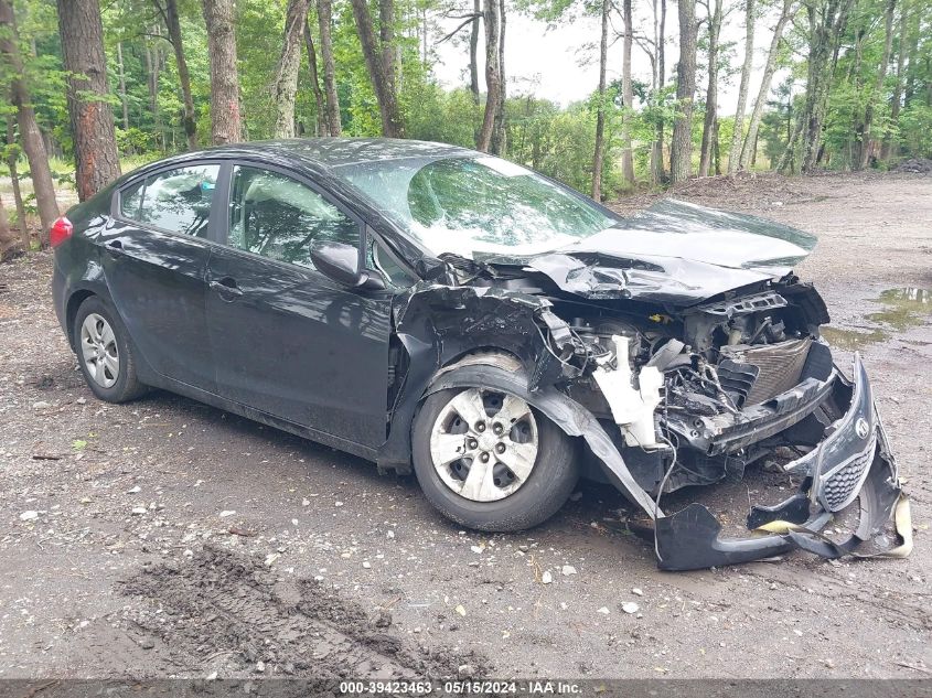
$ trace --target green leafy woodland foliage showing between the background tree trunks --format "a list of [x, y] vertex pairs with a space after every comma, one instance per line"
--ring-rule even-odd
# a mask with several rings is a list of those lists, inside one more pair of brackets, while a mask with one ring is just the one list
[[[160, 0], [164, 2], [164, 0]], [[824, 0], [812, 0], [814, 6]], [[924, 0], [898, 0], [909, 10], [906, 30], [899, 30], [899, 14], [890, 65], [881, 88], [875, 88], [877, 71], [883, 53], [883, 10], [886, 0], [854, 0], [842, 51], [831, 76], [831, 90], [825, 105], [823, 141], [825, 157], [822, 164], [832, 168], [855, 167], [861, 141], [887, 139], [899, 147], [899, 157], [932, 157], [932, 4]], [[312, 3], [313, 4], [313, 3]], [[371, 0], [373, 21], [378, 31], [378, 11]], [[772, 24], [779, 11], [778, 0], [761, 0], [759, 25]], [[66, 103], [66, 74], [62, 67], [62, 51], [57, 31], [55, 0], [14, 0], [20, 34], [20, 53], [25, 62], [22, 77], [29, 86], [40, 128], [45, 132], [53, 155], [55, 172], [73, 176], [71, 124]], [[275, 121], [274, 80], [281, 54], [287, 0], [238, 0], [236, 3], [236, 40], [238, 77], [244, 131], [249, 140], [268, 138]], [[178, 0], [183, 50], [191, 75], [191, 92], [196, 112], [197, 138], [202, 146], [210, 143], [210, 58], [204, 26], [202, 0]], [[463, 6], [471, 10], [471, 3]], [[601, 2], [596, 0], [510, 0], [508, 12], [525, 12], [548, 22], [559, 31], [560, 25], [580, 17], [598, 17]], [[673, 6], [671, 6], [673, 7]], [[821, 7], [821, 6], [819, 6]], [[409, 138], [433, 140], [472, 147], [480, 128], [483, 105], [475, 104], [465, 86], [442, 86], [433, 71], [436, 28], [425, 49], [421, 45], [422, 18], [430, 22], [451, 10], [439, 0], [395, 0], [394, 33], [398, 46], [398, 103], [406, 133]], [[183, 128], [183, 99], [175, 64], [174, 50], [154, 0], [108, 0], [101, 2], [110, 94], [106, 100], [113, 106], [117, 125], [117, 144], [125, 160], [124, 170], [186, 148]], [[613, 13], [618, 8], [613, 6]], [[650, 9], [638, 7], [635, 18], [650, 20]], [[726, 4], [726, 26], [739, 21], [739, 2]], [[618, 31], [617, 14], [613, 30]], [[310, 18], [312, 37], [320, 51], [317, 18]], [[636, 22], [635, 22], [636, 23]], [[447, 24], [444, 24], [447, 26]], [[350, 0], [333, 0], [333, 50], [336, 64], [336, 88], [341, 105], [341, 121], [345, 136], [377, 136], [381, 119], [375, 94], [363, 58], [360, 39]], [[642, 28], [649, 34], [647, 24]], [[669, 30], [667, 30], [669, 31]], [[801, 114], [807, 74], [806, 55], [810, 40], [808, 17], [801, 9], [789, 24], [780, 46], [779, 75], [785, 79], [771, 90], [759, 135], [758, 167], [775, 165], [781, 159]], [[460, 40], [464, 39], [463, 30]], [[705, 105], [705, 75], [708, 66], [703, 47], [707, 43], [707, 22], [703, 24], [699, 43], [697, 95], [694, 106], [694, 155], [698, 158]], [[641, 33], [639, 32], [639, 35]], [[719, 51], [719, 92], [733, 83], [739, 69], [742, 42], [729, 32]], [[598, 34], [590, 36], [583, 47], [590, 57], [597, 50]], [[615, 36], [612, 37], [614, 41]], [[667, 39], [672, 39], [671, 35]], [[635, 53], [643, 47], [635, 45]], [[667, 52], [667, 73], [673, 65], [675, 46]], [[761, 49], [760, 42], [758, 50]], [[427, 52], [426, 55], [424, 52]], [[613, 51], [617, 51], [613, 49]], [[902, 75], [896, 74], [897, 57], [907, 55]], [[121, 58], [121, 60], [120, 60]], [[465, 68], [465, 60], [463, 61]], [[635, 60], [636, 63], [636, 60]], [[612, 66], [617, 75], [620, 66]], [[318, 55], [318, 68], [323, 64]], [[0, 79], [13, 77], [9, 65], [0, 62]], [[322, 77], [322, 75], [321, 75]], [[621, 190], [620, 174], [622, 122], [628, 120], [632, 138], [635, 173], [640, 181], [650, 175], [650, 161], [657, 128], [663, 127], [667, 146], [673, 121], [677, 115], [675, 85], [653, 89], [645, 77], [636, 75], [633, 105], [622, 105], [620, 85], [610, 85], [600, 98], [593, 84], [591, 96], [577, 104], [560, 106], [528, 94], [511, 94], [506, 101], [505, 157], [560, 180], [582, 192], [591, 191], [592, 160], [597, 114], [606, 114], [604, 160], [600, 173], [602, 191], [612, 196]], [[752, 80], [753, 82], [753, 80]], [[120, 85], [124, 84], [121, 89]], [[902, 109], [894, 118], [891, 98], [898, 88]], [[322, 87], [322, 86], [321, 86]], [[510, 84], [510, 88], [514, 87]], [[749, 109], [754, 95], [749, 95]], [[718, 139], [722, 157], [727, 158], [733, 129], [730, 105], [718, 105]], [[865, 115], [872, 110], [869, 132], [864, 132]], [[126, 118], [124, 118], [124, 110]], [[8, 103], [0, 101], [0, 116], [9, 116]], [[312, 136], [321, 118], [310, 84], [306, 47], [301, 47], [299, 89], [296, 119], [299, 132]], [[0, 121], [0, 127], [4, 126]], [[748, 128], [746, 119], [744, 128]], [[797, 150], [801, 144], [797, 146]], [[6, 148], [4, 161], [12, 155], [24, 159], [18, 146]], [[799, 167], [799, 153], [794, 158]], [[724, 168], [726, 163], [721, 163]]]

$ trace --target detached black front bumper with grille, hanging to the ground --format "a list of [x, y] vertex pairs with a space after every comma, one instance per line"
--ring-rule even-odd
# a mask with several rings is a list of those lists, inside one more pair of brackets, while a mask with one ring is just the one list
[[[803, 476], [800, 491], [776, 506], [752, 507], [748, 528], [757, 535], [748, 538], [720, 537], [721, 525], [701, 504], [656, 518], [661, 569], [737, 565], [794, 549], [837, 558], [853, 554], [887, 525], [901, 501], [901, 490], [860, 356], [855, 355], [853, 380], [837, 372], [833, 391], [835, 402], [847, 406], [844, 415], [825, 429], [812, 451], [785, 466]], [[858, 497], [860, 518], [847, 540], [836, 543], [818, 533]]]

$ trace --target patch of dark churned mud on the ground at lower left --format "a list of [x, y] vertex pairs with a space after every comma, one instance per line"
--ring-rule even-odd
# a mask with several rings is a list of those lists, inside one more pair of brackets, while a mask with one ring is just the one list
[[[417, 679], [457, 676], [474, 654], [426, 648], [390, 633], [333, 589], [281, 582], [256, 558], [205, 546], [193, 557], [146, 567], [120, 584], [143, 600], [125, 614], [132, 634], [158, 637], [192, 674], [263, 673], [317, 679]], [[219, 662], [218, 662], [219, 661]]]

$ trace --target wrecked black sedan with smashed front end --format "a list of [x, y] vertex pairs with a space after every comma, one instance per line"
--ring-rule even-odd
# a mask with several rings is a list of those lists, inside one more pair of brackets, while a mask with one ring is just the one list
[[[464, 526], [539, 524], [585, 476], [692, 569], [838, 557], [908, 515], [860, 359], [834, 364], [791, 271], [799, 230], [674, 201], [625, 219], [483, 153], [319, 139], [147, 165], [51, 237], [97, 397], [159, 387], [414, 471]], [[747, 537], [663, 511], [778, 453], [802, 484]], [[847, 539], [818, 533], [851, 507]]]

